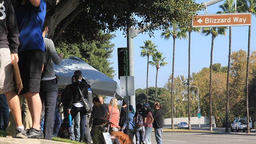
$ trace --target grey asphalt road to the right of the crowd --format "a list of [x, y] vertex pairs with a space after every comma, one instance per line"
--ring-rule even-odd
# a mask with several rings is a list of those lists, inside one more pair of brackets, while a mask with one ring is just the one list
[[[193, 128], [192, 128], [193, 129]], [[208, 130], [208, 128], [206, 128]], [[255, 144], [256, 130], [250, 134], [243, 132], [225, 133], [225, 128], [215, 128], [214, 133], [210, 132], [163, 132], [163, 144]], [[151, 143], [156, 144], [154, 132], [151, 133]]]

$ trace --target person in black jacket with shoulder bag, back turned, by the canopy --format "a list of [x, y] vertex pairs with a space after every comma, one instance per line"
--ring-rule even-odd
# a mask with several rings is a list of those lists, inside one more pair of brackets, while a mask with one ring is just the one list
[[[71, 114], [72, 120], [80, 112], [80, 139], [79, 142], [84, 142], [84, 132], [85, 132], [85, 119], [86, 119], [86, 109], [84, 107], [82, 95], [80, 94], [79, 88], [83, 96], [88, 99], [88, 87], [87, 84], [82, 82], [82, 72], [77, 70], [74, 72], [75, 83], [72, 83], [69, 87], [68, 92], [68, 114]], [[68, 128], [68, 138], [72, 136], [72, 128]]]

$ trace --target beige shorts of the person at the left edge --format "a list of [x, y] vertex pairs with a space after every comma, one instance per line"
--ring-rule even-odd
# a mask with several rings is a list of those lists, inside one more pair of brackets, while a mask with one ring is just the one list
[[10, 49], [0, 48], [0, 94], [14, 89]]

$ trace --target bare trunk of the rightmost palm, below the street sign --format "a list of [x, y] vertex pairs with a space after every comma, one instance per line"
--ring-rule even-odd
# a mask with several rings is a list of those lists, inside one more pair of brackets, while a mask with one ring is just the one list
[[249, 32], [248, 32], [248, 52], [247, 52], [247, 67], [246, 67], [246, 116], [247, 116], [247, 130], [246, 130], [246, 133], [250, 133], [249, 106], [248, 106], [250, 47], [251, 47], [251, 26], [249, 26]]

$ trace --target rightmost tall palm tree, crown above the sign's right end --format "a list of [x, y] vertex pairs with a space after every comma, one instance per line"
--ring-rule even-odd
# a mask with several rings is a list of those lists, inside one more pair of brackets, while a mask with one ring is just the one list
[[[238, 12], [251, 12], [252, 15], [256, 14], [256, 0], [238, 0], [237, 1]], [[248, 83], [249, 83], [249, 60], [250, 60], [250, 47], [251, 47], [251, 27], [248, 30], [248, 50], [247, 50], [247, 67], [246, 67], [246, 116], [247, 116], [247, 130], [246, 133], [250, 133], [249, 128], [249, 106], [248, 106]]]

